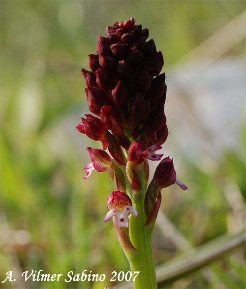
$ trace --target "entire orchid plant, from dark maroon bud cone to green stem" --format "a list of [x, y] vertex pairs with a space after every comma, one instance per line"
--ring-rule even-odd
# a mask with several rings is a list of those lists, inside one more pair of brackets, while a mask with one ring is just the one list
[[[114, 22], [107, 36], [97, 36], [96, 54], [89, 55], [91, 71], [82, 69], [90, 111], [79, 132], [102, 143], [88, 147], [92, 160], [85, 166], [116, 177], [117, 191], [109, 195], [104, 221], [113, 218], [119, 241], [132, 272], [140, 271], [133, 288], [157, 288], [152, 231], [161, 203], [160, 191], [177, 183], [173, 161], [155, 151], [166, 141], [168, 129], [164, 61], [149, 30], [134, 19]], [[111, 156], [105, 151], [108, 149]], [[149, 181], [148, 160], [160, 161]]]

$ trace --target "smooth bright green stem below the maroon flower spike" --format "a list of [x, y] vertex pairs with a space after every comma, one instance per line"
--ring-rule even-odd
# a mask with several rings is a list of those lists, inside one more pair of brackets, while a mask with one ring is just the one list
[[133, 289], [155, 289], [157, 288], [157, 284], [153, 257], [152, 230], [145, 227], [147, 220], [145, 217], [144, 197], [146, 192], [143, 173], [139, 174], [139, 178], [143, 188], [142, 191], [137, 193], [131, 192], [130, 194], [132, 196], [132, 206], [137, 210], [138, 217], [129, 216], [129, 235], [132, 245], [140, 256], [130, 261], [133, 276], [135, 276], [134, 272], [140, 271], [135, 282], [133, 282]]

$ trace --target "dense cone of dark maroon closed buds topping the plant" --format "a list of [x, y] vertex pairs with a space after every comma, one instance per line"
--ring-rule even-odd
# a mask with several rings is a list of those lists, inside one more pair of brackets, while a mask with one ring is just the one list
[[91, 71], [82, 69], [82, 74], [89, 109], [101, 121], [92, 125], [82, 119], [79, 131], [100, 141], [111, 131], [124, 148], [138, 139], [148, 146], [165, 142], [166, 85], [165, 74], [159, 74], [164, 61], [148, 37], [149, 30], [133, 18], [114, 22], [106, 36], [97, 36], [96, 53], [89, 55]]

